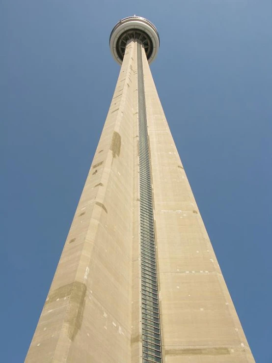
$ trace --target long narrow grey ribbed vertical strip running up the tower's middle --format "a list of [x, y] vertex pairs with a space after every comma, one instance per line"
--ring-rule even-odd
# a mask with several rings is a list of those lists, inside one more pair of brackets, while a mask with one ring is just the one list
[[150, 175], [150, 159], [143, 81], [142, 44], [137, 41], [139, 187], [141, 244], [142, 362], [162, 362], [159, 296]]

